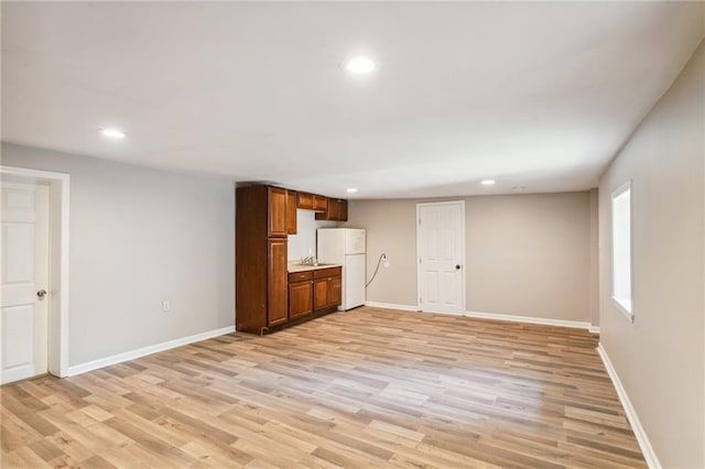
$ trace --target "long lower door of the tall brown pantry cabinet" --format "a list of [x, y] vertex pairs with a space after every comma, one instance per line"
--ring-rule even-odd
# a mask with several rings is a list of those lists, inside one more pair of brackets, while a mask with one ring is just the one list
[[286, 238], [268, 240], [267, 325], [286, 321], [289, 273], [286, 272]]

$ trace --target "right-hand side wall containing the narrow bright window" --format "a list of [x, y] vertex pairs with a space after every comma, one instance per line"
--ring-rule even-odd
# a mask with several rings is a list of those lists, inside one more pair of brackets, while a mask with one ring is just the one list
[[[705, 43], [599, 185], [600, 342], [663, 467], [705, 467]], [[610, 195], [631, 179], [633, 324], [611, 299]]]

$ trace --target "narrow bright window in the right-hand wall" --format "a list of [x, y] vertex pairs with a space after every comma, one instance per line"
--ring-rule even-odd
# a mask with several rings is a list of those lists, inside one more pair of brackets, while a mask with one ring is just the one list
[[612, 299], [633, 319], [631, 310], [631, 183], [612, 193]]

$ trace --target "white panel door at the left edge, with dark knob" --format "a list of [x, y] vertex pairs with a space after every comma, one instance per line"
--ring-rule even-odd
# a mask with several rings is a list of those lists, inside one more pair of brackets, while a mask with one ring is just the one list
[[2, 183], [0, 382], [46, 373], [48, 187]]

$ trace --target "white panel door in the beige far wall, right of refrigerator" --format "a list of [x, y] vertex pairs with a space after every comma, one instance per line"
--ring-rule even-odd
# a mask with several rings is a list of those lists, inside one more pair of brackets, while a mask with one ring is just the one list
[[419, 308], [465, 313], [465, 201], [416, 205]]

